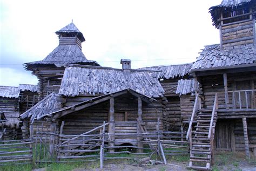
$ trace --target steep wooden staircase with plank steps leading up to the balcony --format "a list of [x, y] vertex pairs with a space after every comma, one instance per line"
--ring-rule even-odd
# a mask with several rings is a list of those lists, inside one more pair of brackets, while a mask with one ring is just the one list
[[[196, 103], [195, 103], [196, 105]], [[194, 107], [197, 117], [191, 119], [188, 128], [190, 139], [190, 162], [188, 168], [196, 170], [210, 170], [214, 156], [214, 132], [218, 114], [218, 94], [215, 95], [213, 109], [200, 109]], [[197, 125], [192, 130], [192, 121]]]

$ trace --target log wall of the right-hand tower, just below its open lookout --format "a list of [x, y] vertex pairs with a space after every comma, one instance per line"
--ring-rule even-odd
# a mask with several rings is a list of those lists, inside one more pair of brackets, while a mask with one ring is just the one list
[[221, 26], [221, 38], [225, 49], [241, 47], [241, 45], [253, 45], [253, 20]]

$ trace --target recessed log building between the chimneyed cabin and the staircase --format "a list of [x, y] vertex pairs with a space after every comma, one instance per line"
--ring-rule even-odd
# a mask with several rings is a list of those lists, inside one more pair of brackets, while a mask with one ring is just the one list
[[[181, 113], [184, 113], [185, 115], [192, 112], [191, 108], [184, 108], [184, 105], [190, 105], [185, 104], [181, 101], [181, 97], [183, 97], [183, 100], [186, 99], [186, 96], [189, 96], [187, 91], [183, 90], [186, 89], [186, 85], [184, 83], [187, 83], [185, 81], [182, 81], [182, 87], [180, 82], [180, 88], [177, 93], [177, 87], [178, 83], [181, 79], [188, 79], [190, 78], [189, 71], [191, 69], [192, 63], [189, 64], [181, 64], [181, 65], [166, 65], [166, 66], [151, 66], [151, 67], [145, 67], [142, 68], [144, 70], [153, 70], [153, 71], [159, 71], [155, 72], [156, 74], [154, 77], [157, 77], [161, 86], [164, 88], [165, 94], [164, 99], [165, 100], [165, 112], [163, 115], [163, 122], [164, 122], [164, 129], [166, 131], [181, 131], [184, 129], [184, 126], [187, 125], [187, 117], [181, 117]], [[190, 89], [191, 86], [187, 85], [187, 88]], [[180, 92], [181, 91], [181, 92]], [[185, 92], [182, 92], [185, 91]], [[182, 96], [181, 96], [182, 95]], [[189, 96], [190, 97], [190, 96]], [[192, 95], [190, 97], [190, 100], [188, 102], [193, 102], [194, 96]], [[186, 101], [187, 102], [187, 101]], [[183, 109], [181, 110], [181, 106]], [[188, 110], [187, 110], [188, 108]]]

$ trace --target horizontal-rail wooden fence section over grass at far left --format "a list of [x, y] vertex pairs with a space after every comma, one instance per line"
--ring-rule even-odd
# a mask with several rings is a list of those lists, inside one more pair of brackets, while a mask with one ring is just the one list
[[32, 163], [32, 141], [0, 140], [0, 165], [22, 165]]

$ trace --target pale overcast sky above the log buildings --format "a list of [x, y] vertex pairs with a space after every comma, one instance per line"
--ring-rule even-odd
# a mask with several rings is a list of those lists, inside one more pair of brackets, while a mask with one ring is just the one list
[[204, 45], [219, 43], [208, 8], [221, 0], [0, 2], [0, 85], [37, 84], [22, 64], [43, 60], [72, 19], [86, 58], [102, 66], [120, 68], [121, 58], [133, 69], [191, 63]]

